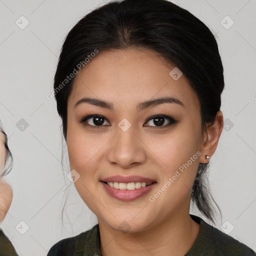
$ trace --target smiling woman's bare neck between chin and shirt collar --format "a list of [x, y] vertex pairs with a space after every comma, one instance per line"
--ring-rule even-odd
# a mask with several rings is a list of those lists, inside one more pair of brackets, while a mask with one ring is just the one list
[[123, 233], [98, 219], [100, 250], [109, 255], [171, 255], [183, 256], [192, 247], [199, 224], [188, 212], [176, 212], [152, 228], [141, 232]]

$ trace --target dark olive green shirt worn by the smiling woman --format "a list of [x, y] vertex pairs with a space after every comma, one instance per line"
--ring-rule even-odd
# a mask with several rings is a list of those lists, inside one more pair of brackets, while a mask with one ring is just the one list
[[[190, 214], [199, 225], [194, 244], [184, 256], [255, 256], [245, 244]], [[171, 255], [171, 253], [170, 253]], [[102, 256], [98, 224], [76, 236], [55, 243], [47, 256]]]

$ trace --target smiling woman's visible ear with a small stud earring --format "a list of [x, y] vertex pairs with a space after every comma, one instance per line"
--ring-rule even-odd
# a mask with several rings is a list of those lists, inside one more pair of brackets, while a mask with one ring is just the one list
[[221, 111], [216, 113], [216, 119], [214, 123], [206, 127], [206, 131], [203, 133], [203, 140], [201, 144], [201, 155], [199, 158], [200, 163], [207, 163], [209, 159], [205, 159], [205, 155], [211, 157], [216, 150], [219, 136], [223, 129], [223, 114]]

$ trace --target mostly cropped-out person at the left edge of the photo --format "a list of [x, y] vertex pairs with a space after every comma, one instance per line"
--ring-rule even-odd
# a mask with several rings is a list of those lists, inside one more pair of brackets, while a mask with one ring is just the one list
[[[12, 155], [7, 144], [7, 135], [0, 124], [0, 223], [3, 221], [12, 201], [12, 189], [3, 180], [12, 168]], [[16, 256], [17, 253], [9, 239], [0, 228], [0, 256]]]

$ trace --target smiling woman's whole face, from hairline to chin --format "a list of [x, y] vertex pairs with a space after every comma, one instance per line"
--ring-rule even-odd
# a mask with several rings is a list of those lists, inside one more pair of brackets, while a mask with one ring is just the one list
[[[189, 208], [203, 142], [200, 104], [184, 75], [170, 76], [174, 67], [147, 49], [99, 52], [69, 95], [75, 187], [116, 230], [123, 221], [130, 231], [146, 230]], [[171, 100], [157, 100], [163, 97]]]

